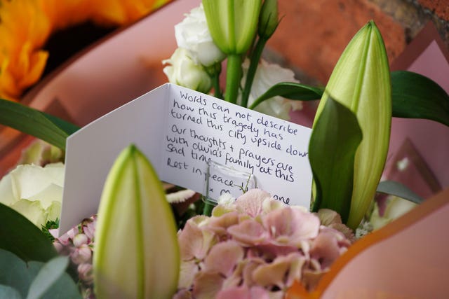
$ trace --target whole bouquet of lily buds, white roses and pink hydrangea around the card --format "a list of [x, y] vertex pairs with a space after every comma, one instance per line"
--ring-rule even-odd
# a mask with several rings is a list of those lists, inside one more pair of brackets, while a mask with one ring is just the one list
[[[321, 98], [309, 141], [311, 207], [282, 204], [259, 189], [236, 199], [222, 195], [215, 207], [191, 190], [166, 194], [151, 162], [131, 144], [112, 165], [98, 214], [58, 236], [65, 139], [79, 128], [1, 100], [0, 123], [48, 144], [33, 144], [23, 165], [0, 181], [6, 223], [0, 267], [12, 269], [1, 272], [0, 293], [295, 298], [313, 292], [369, 230], [363, 220], [376, 190], [385, 192], [378, 186], [391, 116], [449, 125], [449, 96], [424, 76], [391, 73], [373, 21], [349, 42], [326, 88], [300, 84], [293, 72], [261, 60], [279, 22], [276, 0], [203, 0], [175, 27], [179, 48], [163, 62], [164, 72], [172, 83], [279, 118], [300, 109], [300, 101]], [[403, 186], [389, 192], [415, 200]]]

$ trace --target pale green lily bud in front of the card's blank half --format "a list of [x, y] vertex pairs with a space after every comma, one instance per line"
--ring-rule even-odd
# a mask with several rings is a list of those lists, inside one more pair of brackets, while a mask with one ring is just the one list
[[97, 298], [171, 298], [180, 267], [176, 226], [161, 182], [138, 148], [112, 166], [93, 256]]

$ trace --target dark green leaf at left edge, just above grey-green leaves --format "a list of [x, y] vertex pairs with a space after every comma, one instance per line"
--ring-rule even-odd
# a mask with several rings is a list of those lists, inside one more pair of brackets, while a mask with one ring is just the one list
[[46, 262], [57, 256], [51, 241], [27, 218], [0, 204], [0, 249], [11, 251], [22, 260]]

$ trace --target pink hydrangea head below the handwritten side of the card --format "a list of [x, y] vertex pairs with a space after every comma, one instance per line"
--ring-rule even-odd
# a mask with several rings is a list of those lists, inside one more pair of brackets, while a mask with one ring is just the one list
[[253, 189], [217, 205], [211, 217], [189, 219], [178, 232], [174, 298], [283, 298], [295, 280], [313, 289], [351, 245], [350, 230], [335, 214], [311, 214]]

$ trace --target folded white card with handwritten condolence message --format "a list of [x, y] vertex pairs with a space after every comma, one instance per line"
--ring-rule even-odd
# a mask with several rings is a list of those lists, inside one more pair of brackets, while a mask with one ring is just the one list
[[[309, 207], [311, 129], [167, 83], [107, 113], [67, 139], [60, 232], [98, 210], [109, 169], [133, 143], [159, 179], [217, 197], [241, 194], [207, 162], [252, 174], [257, 188]], [[241, 182], [236, 185], [241, 185]], [[235, 185], [235, 183], [234, 183]], [[208, 191], [208, 192], [206, 192]]]

